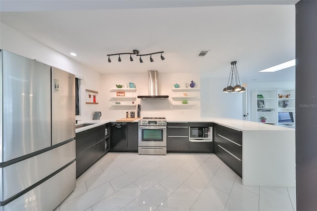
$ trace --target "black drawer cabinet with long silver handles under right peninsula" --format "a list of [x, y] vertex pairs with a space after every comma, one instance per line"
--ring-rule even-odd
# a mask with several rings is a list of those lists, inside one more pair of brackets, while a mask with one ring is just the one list
[[242, 178], [242, 132], [218, 124], [213, 128], [214, 154]]

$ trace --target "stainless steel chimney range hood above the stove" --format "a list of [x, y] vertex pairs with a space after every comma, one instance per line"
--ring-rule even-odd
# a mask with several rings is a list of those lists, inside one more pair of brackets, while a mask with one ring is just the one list
[[138, 96], [141, 99], [166, 99], [168, 95], [159, 95], [159, 72], [149, 70], [149, 95]]

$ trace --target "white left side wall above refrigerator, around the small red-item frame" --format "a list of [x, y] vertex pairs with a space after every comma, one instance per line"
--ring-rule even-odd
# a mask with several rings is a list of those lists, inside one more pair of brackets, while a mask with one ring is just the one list
[[99, 91], [99, 95], [103, 92], [101, 87], [101, 74], [94, 71], [85, 65], [82, 65], [75, 60], [67, 57], [55, 50], [43, 45], [42, 43], [16, 31], [15, 29], [0, 23], [0, 49], [16, 53], [31, 59], [37, 59], [43, 63], [55, 66], [77, 76], [84, 78], [81, 81], [80, 87], [80, 108], [81, 115], [76, 116], [76, 119], [92, 119], [93, 111], [100, 110], [99, 105], [86, 105], [85, 90]]

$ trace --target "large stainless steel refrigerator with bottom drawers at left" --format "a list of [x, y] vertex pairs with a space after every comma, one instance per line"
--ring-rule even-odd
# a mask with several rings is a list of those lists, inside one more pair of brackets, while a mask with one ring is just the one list
[[74, 83], [0, 50], [0, 211], [54, 210], [74, 190]]

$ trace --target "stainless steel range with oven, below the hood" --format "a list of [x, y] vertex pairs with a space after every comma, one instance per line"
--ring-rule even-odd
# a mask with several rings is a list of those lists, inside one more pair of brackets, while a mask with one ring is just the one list
[[166, 119], [139, 120], [139, 155], [166, 155]]

